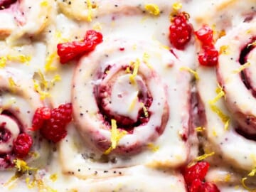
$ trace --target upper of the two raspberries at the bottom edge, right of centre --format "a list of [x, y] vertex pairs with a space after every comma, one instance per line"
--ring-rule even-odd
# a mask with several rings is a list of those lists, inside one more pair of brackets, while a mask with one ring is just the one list
[[186, 167], [183, 170], [183, 176], [185, 179], [185, 182], [188, 186], [191, 186], [191, 183], [195, 180], [198, 179], [199, 181], [203, 181], [205, 178], [208, 168], [210, 164], [206, 161], [201, 161], [196, 163], [193, 166]]

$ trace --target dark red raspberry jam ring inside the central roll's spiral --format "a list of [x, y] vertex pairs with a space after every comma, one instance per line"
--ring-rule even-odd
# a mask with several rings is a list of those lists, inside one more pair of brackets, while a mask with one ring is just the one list
[[[105, 73], [102, 73], [102, 75], [99, 77], [100, 79], [104, 80], [106, 78], [106, 72], [110, 70], [111, 66], [109, 65]], [[129, 68], [129, 66], [124, 66], [122, 69], [125, 70], [126, 68]], [[131, 69], [132, 70], [132, 69]], [[138, 127], [139, 125], [146, 124], [146, 122], [149, 121], [151, 112], [149, 111], [149, 107], [152, 103], [152, 97], [147, 89], [145, 83], [142, 80], [137, 80], [136, 86], [138, 87], [137, 92], [137, 101], [141, 104], [141, 107], [137, 109], [137, 115], [135, 119], [132, 119], [131, 117], [127, 117], [125, 115], [119, 114], [118, 112], [114, 112], [111, 109], [112, 102], [116, 102], [116, 100], [111, 100], [112, 94], [114, 94], [114, 86], [116, 81], [124, 80], [122, 78], [118, 78], [118, 75], [121, 75], [123, 72], [119, 71], [116, 73], [115, 76], [113, 76], [110, 80], [108, 80], [107, 83], [101, 84], [98, 86], [95, 86], [95, 97], [97, 100], [97, 105], [100, 109], [100, 114], [102, 114], [102, 117], [105, 119], [105, 123], [107, 125], [110, 125], [111, 119], [115, 119], [117, 121], [117, 127], [119, 129], [124, 129], [128, 132], [132, 133], [132, 130], [134, 127]], [[129, 81], [129, 78], [127, 78]], [[134, 87], [131, 82], [123, 82], [123, 86], [130, 86]], [[125, 85], [127, 83], [127, 85]], [[129, 92], [119, 92], [117, 93], [117, 97], [120, 99], [123, 99], [122, 97], [128, 97]], [[125, 100], [125, 99], [124, 99]], [[126, 106], [126, 107], [132, 107], [132, 106]], [[146, 112], [146, 113], [145, 113]]]

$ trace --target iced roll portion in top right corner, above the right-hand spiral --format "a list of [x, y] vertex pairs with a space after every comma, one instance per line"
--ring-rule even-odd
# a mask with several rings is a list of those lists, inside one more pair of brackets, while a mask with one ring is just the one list
[[192, 9], [190, 12], [196, 21], [194, 26], [213, 26], [216, 38], [224, 36], [240, 22], [250, 21], [255, 16], [254, 0], [204, 1], [203, 6], [202, 11]]

